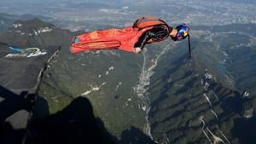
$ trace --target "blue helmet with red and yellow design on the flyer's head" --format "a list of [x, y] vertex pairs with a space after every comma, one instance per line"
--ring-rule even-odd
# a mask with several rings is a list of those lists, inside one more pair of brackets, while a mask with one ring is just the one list
[[174, 41], [180, 41], [186, 39], [189, 36], [189, 27], [186, 24], [176, 26], [177, 34], [175, 37], [172, 37]]

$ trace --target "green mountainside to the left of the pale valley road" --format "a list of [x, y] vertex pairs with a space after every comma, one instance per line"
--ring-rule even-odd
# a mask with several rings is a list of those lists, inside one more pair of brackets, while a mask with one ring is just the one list
[[16, 21], [0, 37], [3, 42], [21, 47], [62, 46], [57, 58], [49, 64], [39, 89], [39, 95], [48, 101], [50, 114], [61, 111], [81, 95], [90, 100], [96, 117], [102, 119], [113, 135], [121, 136], [130, 127], [143, 130], [145, 113], [134, 92], [142, 55], [119, 50], [71, 55], [70, 39], [78, 33], [33, 19]]

